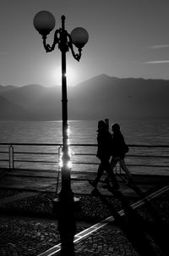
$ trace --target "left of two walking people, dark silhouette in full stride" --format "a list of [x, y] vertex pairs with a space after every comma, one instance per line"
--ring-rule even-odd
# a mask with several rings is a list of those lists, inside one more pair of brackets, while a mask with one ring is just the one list
[[103, 175], [104, 170], [112, 182], [113, 189], [117, 190], [119, 188], [116, 175], [112, 172], [111, 164], [109, 162], [112, 155], [112, 135], [107, 130], [106, 123], [103, 120], [98, 122], [98, 130], [97, 130], [97, 158], [101, 160], [101, 164], [97, 170], [97, 175], [94, 181], [89, 181], [90, 185], [97, 187], [98, 182], [101, 180], [101, 176]]

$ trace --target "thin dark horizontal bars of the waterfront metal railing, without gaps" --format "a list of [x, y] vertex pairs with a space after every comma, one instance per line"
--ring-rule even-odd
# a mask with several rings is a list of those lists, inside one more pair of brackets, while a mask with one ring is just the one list
[[[0, 155], [2, 155], [2, 154], [4, 154], [5, 156], [6, 156], [6, 154], [8, 154], [8, 159], [3, 159], [3, 160], [1, 160], [0, 159], [0, 161], [1, 162], [8, 162], [8, 164], [9, 164], [9, 168], [14, 168], [14, 163], [41, 163], [41, 164], [43, 164], [43, 163], [46, 163], [46, 164], [58, 164], [58, 159], [53, 159], [53, 161], [51, 161], [50, 159], [46, 159], [46, 160], [44, 160], [44, 159], [41, 159], [41, 160], [39, 160], [39, 159], [37, 159], [37, 160], [35, 160], [35, 159], [30, 159], [29, 158], [29, 155], [46, 155], [46, 156], [49, 156], [49, 155], [58, 155], [58, 153], [56, 153], [56, 152], [54, 152], [54, 150], [56, 150], [58, 147], [62, 147], [62, 143], [30, 143], [30, 142], [0, 142], [0, 146], [8, 146], [8, 151], [4, 151], [4, 149], [2, 150], [2, 151], [0, 151]], [[16, 147], [14, 147], [14, 146], [17, 146], [17, 148]], [[19, 146], [19, 148], [18, 148], [18, 146]], [[33, 149], [33, 150], [35, 150], [35, 151], [32, 151], [31, 152], [31, 150], [30, 149], [28, 149], [28, 148], [26, 148], [26, 151], [22, 151], [22, 147], [57, 147], [57, 148], [55, 148], [54, 150], [52, 150], [52, 152], [50, 152], [50, 151], [48, 151], [47, 149], [45, 149], [45, 151], [43, 151], [43, 152], [41, 152], [42, 150], [40, 149], [40, 148], [35, 148], [35, 149]], [[92, 144], [92, 143], [72, 143], [72, 144], [69, 144], [69, 147], [97, 147], [97, 144]], [[150, 145], [150, 144], [128, 144], [128, 147], [130, 147], [130, 148], [132, 148], [132, 147], [138, 147], [138, 148], [140, 148], [140, 147], [144, 147], [144, 148], [169, 148], [169, 145], [166, 145], [166, 144], [161, 144], [161, 145]], [[40, 149], [40, 150], [39, 150]], [[168, 155], [167, 155], [167, 153], [168, 153]], [[147, 159], [147, 158], [153, 158], [153, 157], [155, 157], [156, 159], [169, 159], [169, 152], [165, 152], [165, 153], [161, 153], [161, 155], [159, 155], [159, 153], [158, 152], [154, 152], [154, 153], [147, 153], [147, 152], [143, 152], [143, 150], [141, 150], [141, 152], [139, 153], [139, 151], [137, 152], [129, 152], [128, 154], [127, 154], [127, 157], [128, 158], [142, 158], [142, 159]], [[21, 155], [26, 155], [27, 154], [27, 159], [19, 159], [19, 158], [14, 158], [14, 156], [21, 156]], [[74, 155], [75, 156], [81, 156], [81, 157], [83, 157], [83, 156], [95, 156], [96, 155], [96, 148], [95, 148], [95, 153], [93, 153], [93, 152], [89, 152], [89, 153], [83, 153], [83, 152], [77, 152], [77, 153], [74, 153]], [[74, 161], [73, 161], [73, 164], [95, 164], [95, 160], [94, 159], [92, 159], [93, 160], [93, 163], [91, 163], [91, 161], [90, 161], [90, 159], [88, 160], [88, 163], [87, 162], [84, 162], [84, 159], [82, 159], [80, 162], [79, 161], [76, 161], [76, 163], [74, 163]], [[98, 162], [99, 163], [99, 162]], [[96, 163], [96, 164], [98, 164], [98, 163]], [[138, 163], [139, 164], [139, 163]], [[128, 165], [133, 165], [133, 163], [131, 164], [131, 163], [128, 163]], [[139, 166], [139, 165], [138, 165]], [[145, 164], [142, 164], [142, 166], [148, 166], [147, 164], [145, 165]], [[155, 165], [150, 165], [150, 166], [154, 166], [154, 167], [160, 167], [159, 165], [158, 165], [158, 163], [156, 163]], [[169, 167], [168, 165], [167, 165], [167, 163], [166, 163], [166, 165], [164, 166], [162, 163], [161, 163], [161, 167]]]

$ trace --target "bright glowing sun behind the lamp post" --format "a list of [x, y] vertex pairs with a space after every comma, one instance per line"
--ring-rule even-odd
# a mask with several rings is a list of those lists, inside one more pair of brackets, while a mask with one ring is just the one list
[[[73, 67], [70, 65], [67, 65], [67, 85], [68, 86], [74, 86], [76, 83], [76, 72]], [[54, 82], [56, 85], [62, 85], [62, 69], [61, 66], [57, 66], [57, 68], [54, 68], [52, 70], [51, 74], [52, 82]]]

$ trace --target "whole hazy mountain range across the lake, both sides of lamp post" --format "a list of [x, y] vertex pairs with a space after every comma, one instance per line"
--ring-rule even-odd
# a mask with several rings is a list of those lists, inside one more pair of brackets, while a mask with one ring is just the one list
[[[0, 120], [61, 120], [61, 86], [0, 86]], [[169, 81], [98, 75], [68, 86], [68, 119], [169, 118]]]

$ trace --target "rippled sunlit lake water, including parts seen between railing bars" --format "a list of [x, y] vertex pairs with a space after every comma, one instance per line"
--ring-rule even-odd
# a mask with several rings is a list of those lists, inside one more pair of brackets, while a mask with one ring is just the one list
[[[121, 125], [123, 135], [128, 144], [149, 144], [149, 145], [169, 145], [169, 120], [115, 120]], [[96, 144], [96, 130], [98, 120], [70, 120], [69, 125], [69, 143], [70, 144]], [[112, 121], [110, 120], [110, 125]], [[62, 122], [61, 121], [38, 121], [38, 122], [13, 122], [13, 121], [1, 121], [0, 122], [0, 142], [20, 142], [20, 143], [62, 143]], [[14, 148], [15, 149], [15, 148]], [[72, 148], [74, 153], [95, 153], [95, 147], [78, 147]], [[20, 151], [20, 148], [16, 147], [16, 150]], [[25, 147], [22, 151], [28, 151], [29, 148]], [[36, 151], [36, 148], [34, 149]], [[39, 148], [38, 148], [39, 150]], [[46, 152], [46, 147], [42, 147], [41, 151]], [[50, 148], [49, 152], [57, 152], [56, 148]], [[130, 148], [128, 154], [160, 154], [169, 155], [168, 149], [145, 149], [145, 148]], [[19, 155], [16, 156], [19, 158]], [[25, 156], [22, 156], [22, 159]], [[29, 156], [33, 159], [32, 156]], [[39, 156], [39, 160], [51, 159], [51, 156]], [[169, 158], [168, 158], [169, 159]], [[126, 158], [127, 164], [156, 164], [156, 165], [169, 165], [169, 160], [166, 159], [137, 159], [137, 158]], [[98, 163], [98, 159], [95, 157], [78, 157], [72, 156], [73, 162], [90, 162], [94, 161]], [[74, 170], [86, 170], [86, 165], [73, 164]], [[22, 168], [23, 164], [18, 164], [17, 167]], [[36, 166], [39, 168], [39, 166]], [[43, 168], [49, 169], [49, 166], [43, 165]], [[50, 168], [57, 168], [56, 164], [50, 166]], [[97, 170], [96, 165], [90, 165], [87, 167], [88, 170]], [[130, 167], [133, 172], [150, 172], [147, 168]], [[169, 168], [163, 168], [161, 173], [168, 174]], [[158, 168], [153, 169], [153, 173], [159, 173]]]

